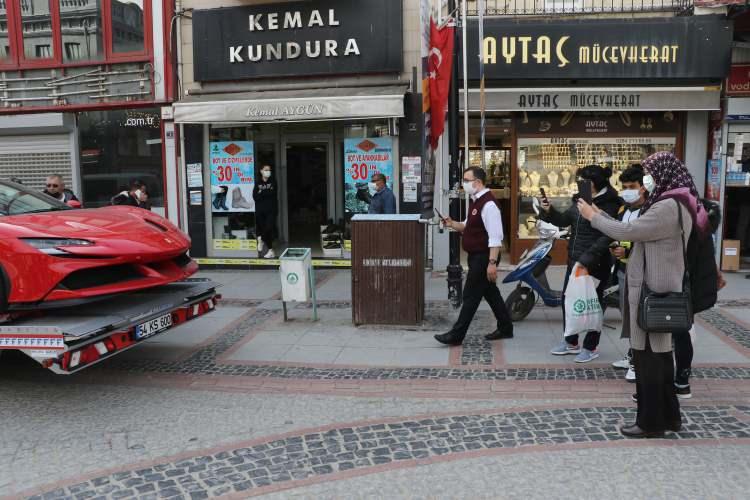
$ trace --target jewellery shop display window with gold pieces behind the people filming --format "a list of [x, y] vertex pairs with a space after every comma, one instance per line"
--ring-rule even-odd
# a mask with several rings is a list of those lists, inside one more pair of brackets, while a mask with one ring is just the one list
[[565, 137], [518, 140], [518, 237], [537, 238], [533, 200], [543, 188], [560, 211], [578, 192], [576, 171], [586, 165], [611, 167], [611, 183], [618, 191], [620, 174], [658, 151], [674, 152], [672, 137]]

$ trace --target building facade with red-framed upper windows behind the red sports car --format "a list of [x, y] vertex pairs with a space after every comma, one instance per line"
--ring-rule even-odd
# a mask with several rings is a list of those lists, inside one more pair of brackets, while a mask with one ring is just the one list
[[139, 178], [176, 220], [161, 122], [173, 12], [172, 0], [0, 2], [0, 176], [42, 189], [60, 174], [87, 207]]

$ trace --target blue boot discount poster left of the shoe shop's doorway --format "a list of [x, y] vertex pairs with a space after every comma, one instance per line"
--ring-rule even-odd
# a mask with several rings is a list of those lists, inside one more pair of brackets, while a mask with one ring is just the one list
[[252, 141], [209, 143], [211, 209], [214, 212], [255, 212], [255, 155]]

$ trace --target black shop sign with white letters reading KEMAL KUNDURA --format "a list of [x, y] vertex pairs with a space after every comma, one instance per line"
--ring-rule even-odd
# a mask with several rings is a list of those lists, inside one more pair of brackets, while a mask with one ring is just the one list
[[402, 70], [401, 0], [193, 11], [196, 81]]

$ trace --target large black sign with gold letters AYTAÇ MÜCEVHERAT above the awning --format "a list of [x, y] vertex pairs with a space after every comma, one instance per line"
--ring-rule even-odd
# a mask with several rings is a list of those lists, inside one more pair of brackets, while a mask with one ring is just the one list
[[[478, 47], [476, 20], [469, 47]], [[723, 16], [634, 20], [484, 21], [484, 72], [490, 80], [715, 79], [730, 63], [732, 23]], [[479, 60], [468, 61], [479, 78]]]

